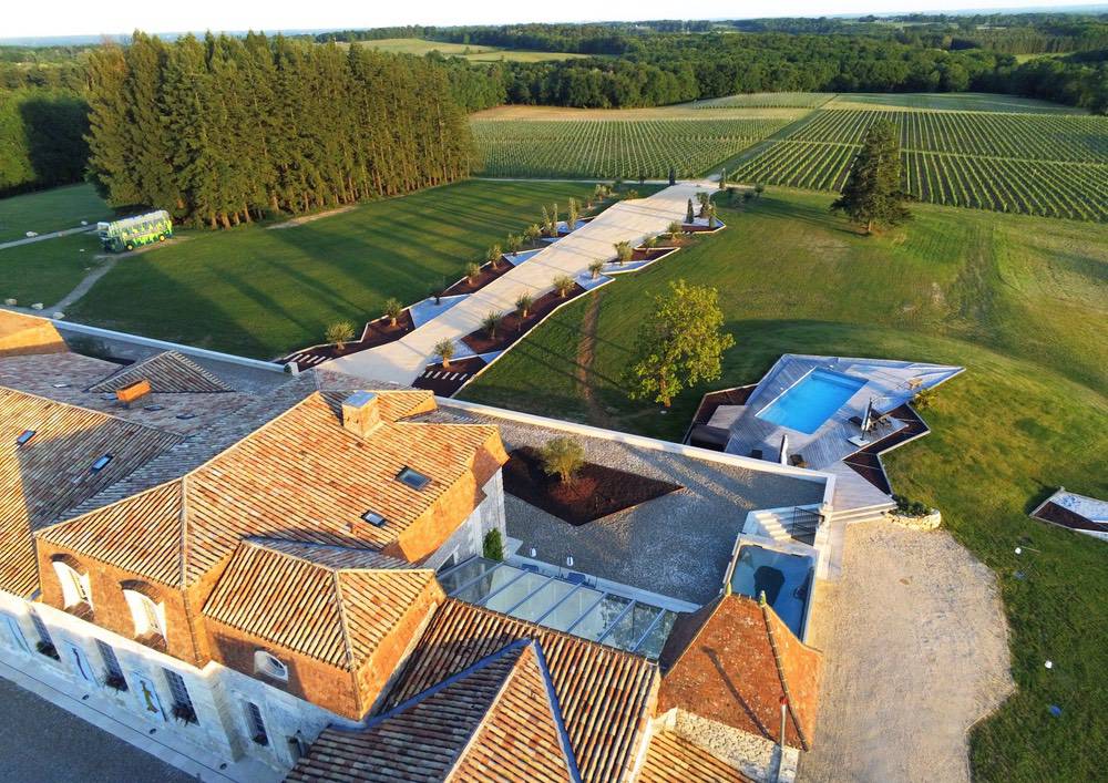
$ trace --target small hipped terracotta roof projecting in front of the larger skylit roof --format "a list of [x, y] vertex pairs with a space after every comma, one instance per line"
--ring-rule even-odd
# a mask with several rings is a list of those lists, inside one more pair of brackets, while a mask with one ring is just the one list
[[[317, 557], [317, 555], [322, 557]], [[329, 565], [334, 553], [243, 542], [203, 614], [347, 671], [357, 671], [434, 581], [427, 569]], [[380, 556], [378, 556], [380, 557]]]

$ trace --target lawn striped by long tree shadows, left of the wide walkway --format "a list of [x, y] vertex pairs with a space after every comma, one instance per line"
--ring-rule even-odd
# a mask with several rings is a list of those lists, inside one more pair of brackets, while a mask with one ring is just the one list
[[389, 297], [422, 299], [537, 223], [543, 204], [564, 210], [592, 189], [472, 181], [291, 228], [182, 231], [179, 243], [121, 260], [69, 316], [269, 359], [321, 342], [334, 321], [377, 318]]

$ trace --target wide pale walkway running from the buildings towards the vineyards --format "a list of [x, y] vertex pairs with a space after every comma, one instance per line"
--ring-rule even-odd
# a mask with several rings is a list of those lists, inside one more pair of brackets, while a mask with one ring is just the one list
[[480, 329], [482, 319], [490, 312], [505, 313], [515, 309], [515, 300], [521, 293], [537, 298], [553, 288], [555, 277], [587, 277], [588, 265], [594, 260], [607, 261], [615, 257], [616, 243], [626, 240], [637, 245], [647, 237], [665, 233], [670, 223], [685, 219], [689, 198], [695, 202], [698, 192], [712, 192], [716, 187], [711, 182], [683, 182], [647, 198], [620, 202], [402, 339], [332, 359], [320, 367], [369, 380], [410, 385], [429, 363], [438, 360], [434, 347], [440, 340], [460, 340]]

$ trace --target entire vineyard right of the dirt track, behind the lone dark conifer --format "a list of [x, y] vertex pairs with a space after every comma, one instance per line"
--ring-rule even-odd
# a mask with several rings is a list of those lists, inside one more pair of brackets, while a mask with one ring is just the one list
[[1108, 220], [1108, 119], [970, 112], [818, 111], [732, 177], [837, 190], [880, 119], [901, 131], [904, 186], [932, 204]]

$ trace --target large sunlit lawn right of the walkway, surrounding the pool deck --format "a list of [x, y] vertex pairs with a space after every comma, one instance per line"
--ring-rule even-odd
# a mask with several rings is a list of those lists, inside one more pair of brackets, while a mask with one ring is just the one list
[[[721, 209], [727, 230], [560, 311], [463, 396], [679, 440], [702, 392], [755, 382], [784, 352], [966, 367], [924, 412], [933, 433], [886, 465], [999, 579], [1019, 690], [975, 729], [974, 775], [1098, 779], [1108, 546], [1026, 514], [1058, 485], [1108, 496], [1108, 226], [919, 205], [905, 229], [864, 238], [830, 200], [771, 188], [746, 213]], [[679, 277], [719, 289], [737, 344], [720, 381], [661, 415], [618, 378], [650, 298]]]

